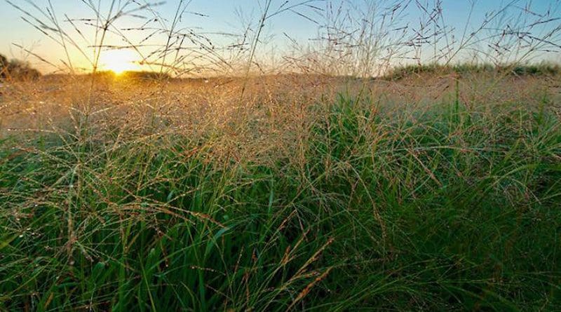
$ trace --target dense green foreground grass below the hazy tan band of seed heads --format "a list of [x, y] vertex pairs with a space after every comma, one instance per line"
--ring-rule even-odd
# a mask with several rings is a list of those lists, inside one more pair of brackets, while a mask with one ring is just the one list
[[216, 129], [6, 137], [0, 309], [553, 311], [555, 107], [459, 102], [339, 93], [264, 160]]

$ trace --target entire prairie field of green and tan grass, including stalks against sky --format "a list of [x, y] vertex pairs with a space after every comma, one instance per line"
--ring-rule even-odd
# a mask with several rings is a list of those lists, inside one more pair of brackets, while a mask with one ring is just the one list
[[[137, 11], [102, 18], [83, 3], [99, 59], [105, 32]], [[352, 60], [309, 49], [290, 59], [306, 70], [267, 71], [261, 28], [284, 11], [262, 10], [236, 71], [181, 72], [173, 27], [164, 56], [143, 60], [172, 62], [159, 72], [0, 66], [0, 311], [558, 311], [559, 65], [452, 62], [449, 49], [432, 62], [383, 60], [374, 74], [365, 68], [379, 55], [353, 49], [384, 50], [380, 26], [370, 41], [342, 37]], [[46, 12], [29, 23], [67, 50], [78, 35]], [[558, 20], [549, 14], [522, 28]], [[508, 47], [522, 55], [529, 35], [515, 36]], [[426, 38], [414, 45], [438, 45]]]

